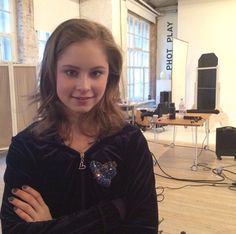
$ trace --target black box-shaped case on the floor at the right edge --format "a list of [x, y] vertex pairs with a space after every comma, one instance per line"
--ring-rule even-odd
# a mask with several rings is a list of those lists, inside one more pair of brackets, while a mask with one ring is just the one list
[[216, 155], [217, 159], [221, 156], [234, 156], [236, 159], [236, 128], [222, 127], [216, 129]]

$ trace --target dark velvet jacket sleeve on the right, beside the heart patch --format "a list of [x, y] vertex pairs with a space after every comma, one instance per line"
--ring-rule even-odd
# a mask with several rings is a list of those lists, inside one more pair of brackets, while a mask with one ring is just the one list
[[158, 206], [152, 155], [140, 130], [128, 138], [127, 217], [123, 224], [123, 232], [156, 234], [158, 232]]

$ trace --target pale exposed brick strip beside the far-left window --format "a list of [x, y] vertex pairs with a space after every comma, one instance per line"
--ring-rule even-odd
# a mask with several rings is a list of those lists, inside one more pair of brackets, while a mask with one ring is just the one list
[[38, 45], [34, 30], [33, 0], [16, 0], [16, 15], [18, 62], [36, 64]]

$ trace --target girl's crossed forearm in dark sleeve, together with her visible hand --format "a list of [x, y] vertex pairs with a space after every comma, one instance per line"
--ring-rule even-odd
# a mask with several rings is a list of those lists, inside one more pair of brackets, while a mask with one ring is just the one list
[[53, 219], [41, 195], [29, 186], [4, 194], [1, 218], [3, 234], [116, 233], [121, 225], [116, 201]]

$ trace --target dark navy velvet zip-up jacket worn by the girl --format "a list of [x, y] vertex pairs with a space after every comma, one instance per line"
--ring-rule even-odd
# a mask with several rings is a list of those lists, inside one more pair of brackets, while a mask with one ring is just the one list
[[[13, 137], [4, 175], [3, 234], [157, 233], [153, 161], [138, 128], [127, 124], [97, 141], [85, 152], [84, 170], [78, 169], [80, 160], [57, 137], [36, 139], [31, 127]], [[42, 195], [53, 220], [27, 223], [14, 213], [8, 197], [23, 185]]]

